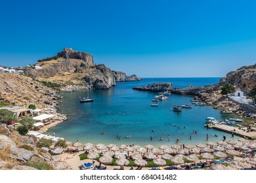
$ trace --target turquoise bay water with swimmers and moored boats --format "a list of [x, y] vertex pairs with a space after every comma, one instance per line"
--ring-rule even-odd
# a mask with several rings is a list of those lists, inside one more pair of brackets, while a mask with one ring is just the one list
[[[79, 103], [79, 96], [86, 96], [87, 90], [61, 93], [61, 110], [68, 114], [68, 120], [49, 129], [49, 133], [54, 132], [56, 136], [64, 137], [67, 141], [79, 140], [95, 144], [174, 144], [177, 138], [181, 144], [196, 144], [206, 142], [207, 133], [210, 136], [209, 141], [219, 141], [223, 135], [229, 138], [230, 134], [207, 129], [204, 124], [207, 116], [223, 120], [232, 115], [221, 114], [220, 110], [208, 106], [193, 105], [192, 109], [183, 108], [182, 112], [171, 109], [173, 105], [191, 105], [190, 99], [194, 97], [189, 95], [172, 94], [168, 100], [160, 101], [159, 107], [151, 107], [152, 99], [158, 93], [131, 89], [133, 86], [144, 86], [153, 82], [172, 82], [173, 87], [203, 86], [216, 83], [219, 79], [145, 78], [140, 82], [119, 82], [110, 90], [90, 90], [89, 95], [95, 98], [93, 103]], [[102, 131], [105, 135], [101, 135]], [[198, 131], [198, 134], [192, 131]], [[121, 141], [117, 140], [117, 135], [121, 135]], [[126, 135], [131, 138], [125, 139]], [[150, 136], [153, 141], [150, 141]], [[160, 137], [163, 141], [160, 141]]]

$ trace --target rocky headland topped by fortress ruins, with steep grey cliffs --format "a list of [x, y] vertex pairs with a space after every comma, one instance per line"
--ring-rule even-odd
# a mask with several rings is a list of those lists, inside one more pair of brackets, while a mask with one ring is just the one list
[[116, 82], [140, 80], [137, 76], [126, 76], [112, 71], [104, 64], [96, 65], [93, 56], [85, 52], [77, 52], [72, 48], [64, 48], [56, 56], [40, 59], [37, 67], [26, 69], [25, 73], [32, 78], [60, 84], [83, 86], [83, 88], [108, 89], [116, 86]]

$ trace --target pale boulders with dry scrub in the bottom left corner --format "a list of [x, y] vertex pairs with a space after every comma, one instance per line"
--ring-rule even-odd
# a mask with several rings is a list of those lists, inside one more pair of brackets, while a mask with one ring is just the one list
[[61, 161], [60, 147], [37, 148], [33, 136], [22, 136], [12, 125], [0, 124], [0, 170], [70, 169]]

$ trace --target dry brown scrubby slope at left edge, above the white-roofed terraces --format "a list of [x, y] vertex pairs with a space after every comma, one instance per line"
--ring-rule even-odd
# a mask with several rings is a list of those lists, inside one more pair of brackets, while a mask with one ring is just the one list
[[0, 98], [12, 105], [36, 105], [46, 107], [53, 105], [60, 98], [55, 90], [43, 86], [28, 76], [15, 73], [0, 73]]

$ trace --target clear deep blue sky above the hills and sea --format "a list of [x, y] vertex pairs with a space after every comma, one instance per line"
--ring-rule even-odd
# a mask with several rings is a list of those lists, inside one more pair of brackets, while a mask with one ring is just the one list
[[256, 1], [1, 1], [0, 65], [64, 47], [142, 77], [224, 76], [256, 63]]

